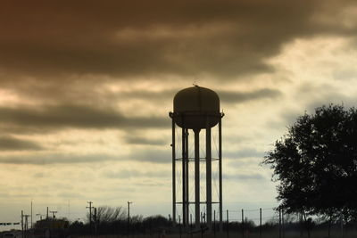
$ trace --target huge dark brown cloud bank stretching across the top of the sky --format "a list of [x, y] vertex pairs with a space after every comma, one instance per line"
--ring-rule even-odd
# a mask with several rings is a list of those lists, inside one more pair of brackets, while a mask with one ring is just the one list
[[[273, 70], [295, 37], [352, 35], [324, 21], [353, 1], [36, 1], [0, 10], [0, 69], [46, 80], [69, 74], [210, 74]], [[56, 77], [54, 77], [56, 74]], [[51, 77], [48, 77], [51, 75]], [[2, 81], [12, 80], [7, 77]], [[16, 84], [16, 83], [15, 83]]]

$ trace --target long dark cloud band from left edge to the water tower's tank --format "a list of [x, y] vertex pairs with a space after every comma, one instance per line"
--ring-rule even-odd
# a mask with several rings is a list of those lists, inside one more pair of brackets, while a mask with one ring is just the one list
[[99, 109], [85, 105], [45, 105], [39, 109], [0, 107], [0, 114], [1, 123], [20, 125], [24, 130], [29, 131], [32, 127], [53, 130], [63, 127], [126, 129], [169, 127], [170, 124], [163, 117], [128, 118], [112, 109]]

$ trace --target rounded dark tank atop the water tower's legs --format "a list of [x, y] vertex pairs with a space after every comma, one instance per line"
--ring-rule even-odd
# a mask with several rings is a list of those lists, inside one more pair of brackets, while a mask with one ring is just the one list
[[220, 120], [220, 97], [209, 88], [187, 87], [175, 95], [173, 111], [176, 115], [175, 123], [179, 127], [214, 127]]

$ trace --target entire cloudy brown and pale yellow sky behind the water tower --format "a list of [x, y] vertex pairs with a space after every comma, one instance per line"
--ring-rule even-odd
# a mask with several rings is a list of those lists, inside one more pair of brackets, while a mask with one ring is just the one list
[[354, 105], [356, 37], [348, 0], [3, 1], [0, 222], [31, 201], [167, 216], [168, 112], [193, 83], [226, 114], [224, 209], [274, 206], [264, 152], [305, 111]]

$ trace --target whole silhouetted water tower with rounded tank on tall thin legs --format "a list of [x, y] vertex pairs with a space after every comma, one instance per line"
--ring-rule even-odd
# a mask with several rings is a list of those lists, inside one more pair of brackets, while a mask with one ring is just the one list
[[[173, 112], [169, 113], [172, 119], [172, 219], [177, 222], [177, 206], [182, 207], [182, 225], [188, 226], [190, 219], [190, 204], [195, 204], [195, 226], [199, 227], [201, 217], [201, 204], [205, 205], [204, 220], [209, 229], [212, 228], [212, 203], [219, 204], [220, 230], [222, 228], [222, 140], [221, 119], [224, 114], [220, 112], [220, 98], [211, 89], [202, 86], [192, 86], [180, 90], [173, 100]], [[218, 158], [212, 158], [212, 127], [218, 125]], [[176, 142], [176, 126], [181, 129], [181, 138]], [[189, 157], [188, 138], [189, 132], [194, 132], [194, 158]], [[200, 157], [200, 132], [205, 131], [205, 156]], [[179, 133], [178, 133], [179, 134]], [[201, 135], [202, 135], [201, 134]], [[204, 137], [203, 137], [204, 138]], [[179, 149], [178, 149], [179, 148]], [[181, 155], [177, 156], [177, 151]], [[218, 161], [219, 191], [218, 201], [212, 201], [212, 162]], [[195, 201], [189, 201], [189, 164], [195, 165]], [[205, 163], [205, 201], [200, 197], [200, 165]], [[180, 184], [182, 191], [177, 190], [177, 165], [181, 166]], [[191, 169], [192, 171], [192, 169]], [[204, 171], [203, 171], [204, 172]], [[192, 178], [191, 178], [192, 180]], [[182, 198], [177, 198], [180, 192]], [[215, 217], [214, 217], [215, 218]]]

